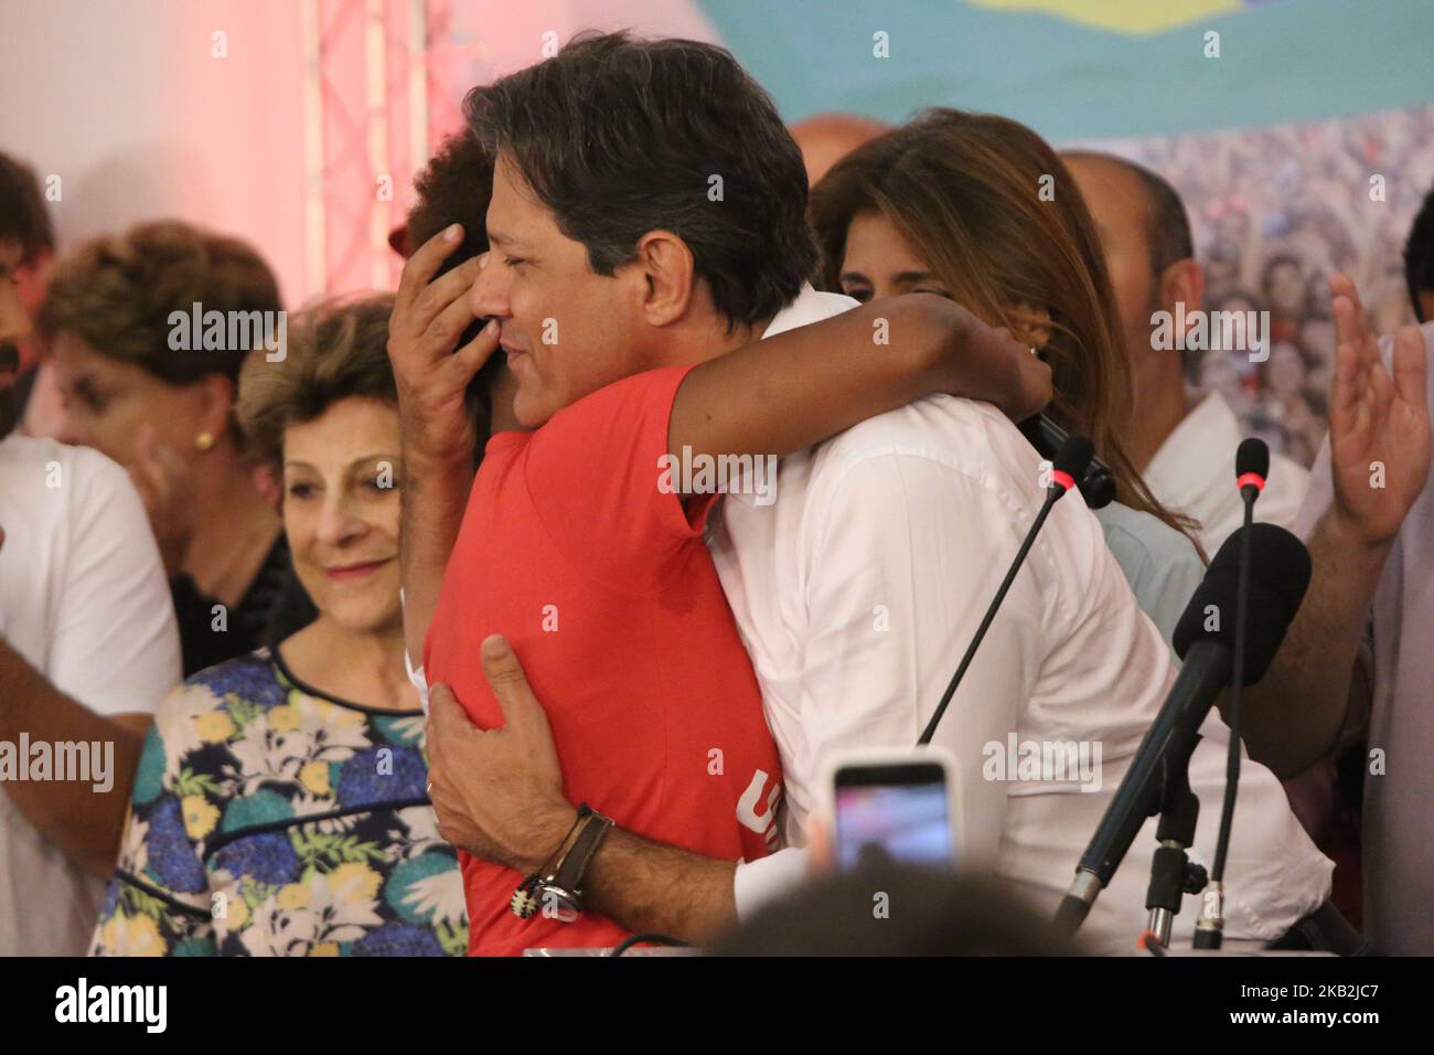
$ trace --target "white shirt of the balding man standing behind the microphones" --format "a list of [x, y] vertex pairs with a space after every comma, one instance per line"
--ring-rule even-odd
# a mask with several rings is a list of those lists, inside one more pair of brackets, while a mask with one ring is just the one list
[[[1200, 521], [1200, 545], [1213, 558], [1245, 522], [1245, 502], [1235, 487], [1235, 451], [1240, 422], [1225, 396], [1212, 392], [1192, 408], [1146, 466], [1150, 492], [1173, 512]], [[1309, 488], [1309, 469], [1282, 454], [1269, 454], [1269, 477], [1255, 520], [1289, 528]]]

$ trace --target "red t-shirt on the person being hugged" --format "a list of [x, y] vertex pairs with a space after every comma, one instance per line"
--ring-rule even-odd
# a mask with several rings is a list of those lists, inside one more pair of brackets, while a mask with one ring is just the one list
[[[687, 369], [625, 378], [536, 432], [489, 441], [424, 670], [479, 726], [502, 725], [479, 646], [505, 634], [548, 713], [569, 801], [651, 840], [751, 860], [777, 837], [780, 762], [703, 544], [711, 500], [688, 520], [681, 495], [658, 487]], [[522, 920], [508, 904], [523, 877], [459, 857], [470, 955], [628, 934], [592, 911]]]

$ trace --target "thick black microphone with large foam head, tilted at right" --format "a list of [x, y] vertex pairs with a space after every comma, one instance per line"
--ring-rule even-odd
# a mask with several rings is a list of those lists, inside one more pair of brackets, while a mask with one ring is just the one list
[[1305, 599], [1309, 551], [1285, 528], [1252, 524], [1230, 535], [1215, 554], [1176, 624], [1174, 650], [1184, 665], [1106, 807], [1106, 815], [1076, 866], [1076, 878], [1057, 911], [1057, 926], [1065, 933], [1074, 933], [1084, 922], [1100, 891], [1110, 886], [1146, 818], [1156, 811], [1169, 745], [1199, 729], [1216, 698], [1230, 683], [1239, 551], [1246, 540], [1253, 557], [1249, 563], [1249, 596], [1259, 617], [1246, 627], [1245, 685], [1265, 676]]

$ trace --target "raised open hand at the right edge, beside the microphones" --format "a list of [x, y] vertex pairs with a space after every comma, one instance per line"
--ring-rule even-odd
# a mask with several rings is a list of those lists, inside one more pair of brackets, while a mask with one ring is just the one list
[[1382, 545], [1400, 531], [1424, 492], [1430, 471], [1430, 411], [1424, 334], [1405, 326], [1394, 337], [1392, 372], [1365, 322], [1348, 276], [1329, 277], [1336, 334], [1329, 399], [1334, 511], [1358, 538]]

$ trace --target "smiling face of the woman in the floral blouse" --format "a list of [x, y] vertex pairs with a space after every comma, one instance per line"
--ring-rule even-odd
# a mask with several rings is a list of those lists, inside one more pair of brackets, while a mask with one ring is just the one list
[[399, 412], [351, 396], [284, 431], [284, 533], [321, 617], [354, 633], [403, 629]]

